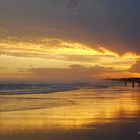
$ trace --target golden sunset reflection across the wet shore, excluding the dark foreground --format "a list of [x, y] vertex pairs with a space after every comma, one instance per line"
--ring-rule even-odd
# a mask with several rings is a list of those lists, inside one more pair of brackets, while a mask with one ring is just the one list
[[[122, 90], [123, 91], [123, 90]], [[53, 94], [0, 95], [0, 133], [90, 129], [134, 119], [139, 91], [75, 90]]]

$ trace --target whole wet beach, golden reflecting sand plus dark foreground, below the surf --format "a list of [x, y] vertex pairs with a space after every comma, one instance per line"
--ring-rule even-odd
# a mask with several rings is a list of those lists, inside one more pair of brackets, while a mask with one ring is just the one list
[[0, 140], [140, 139], [140, 89], [0, 95]]

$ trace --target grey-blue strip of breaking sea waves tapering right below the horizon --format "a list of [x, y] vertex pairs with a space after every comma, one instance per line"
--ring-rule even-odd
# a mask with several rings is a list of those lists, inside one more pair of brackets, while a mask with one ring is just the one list
[[50, 93], [88, 87], [87, 83], [0, 84], [0, 94]]

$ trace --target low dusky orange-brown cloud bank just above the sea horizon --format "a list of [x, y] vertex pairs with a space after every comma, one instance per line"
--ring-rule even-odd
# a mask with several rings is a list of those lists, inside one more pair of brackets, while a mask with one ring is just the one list
[[[71, 65], [69, 68], [32, 68], [29, 69], [31, 80], [40, 81], [94, 81], [103, 73], [115, 72], [112, 68], [102, 66], [84, 67]], [[33, 75], [33, 76], [32, 76]]]

